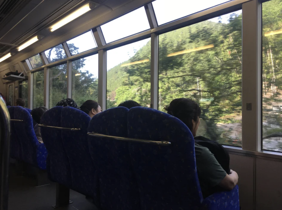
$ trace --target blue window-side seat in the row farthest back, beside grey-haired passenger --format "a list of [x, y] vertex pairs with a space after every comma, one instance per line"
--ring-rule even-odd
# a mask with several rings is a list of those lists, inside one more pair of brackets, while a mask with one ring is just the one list
[[14, 122], [17, 137], [21, 142], [21, 159], [45, 170], [47, 150], [36, 138], [30, 113], [25, 108], [17, 106], [14, 109], [14, 119], [23, 120], [23, 122]]

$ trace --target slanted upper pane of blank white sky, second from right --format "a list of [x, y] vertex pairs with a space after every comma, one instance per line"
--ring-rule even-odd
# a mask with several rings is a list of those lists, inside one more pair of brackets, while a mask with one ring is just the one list
[[101, 29], [107, 43], [150, 29], [144, 7], [136, 9], [104, 25]]

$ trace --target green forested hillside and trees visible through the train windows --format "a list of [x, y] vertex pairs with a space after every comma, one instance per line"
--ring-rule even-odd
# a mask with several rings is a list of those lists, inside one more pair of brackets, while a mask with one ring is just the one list
[[[281, 0], [263, 3], [262, 77], [265, 141], [282, 137], [282, 108], [279, 108], [282, 107], [282, 35], [272, 33], [282, 29], [281, 14]], [[52, 50], [54, 52], [52, 59], [62, 58], [60, 46]], [[70, 50], [76, 51], [78, 48], [72, 45]], [[142, 106], [149, 107], [150, 59], [149, 41], [129, 60], [108, 70], [107, 108], [115, 107], [125, 100], [135, 100]], [[73, 98], [79, 105], [87, 99], [97, 100], [98, 96], [98, 79], [89, 71], [82, 71], [84, 65], [84, 59], [80, 59], [74, 61], [72, 66], [73, 88], [75, 87]], [[158, 66], [159, 110], [163, 111], [164, 107], [175, 98], [194, 99], [202, 108], [199, 134], [223, 144], [241, 145], [242, 15], [240, 12], [229, 14], [228, 21], [221, 21], [219, 17], [218, 22], [207, 20], [160, 34]], [[66, 66], [53, 67], [50, 78], [52, 78], [50, 101], [52, 100], [54, 106], [67, 95]], [[42, 82], [35, 83], [35, 93], [43, 93]], [[34, 101], [34, 104], [41, 103]]]

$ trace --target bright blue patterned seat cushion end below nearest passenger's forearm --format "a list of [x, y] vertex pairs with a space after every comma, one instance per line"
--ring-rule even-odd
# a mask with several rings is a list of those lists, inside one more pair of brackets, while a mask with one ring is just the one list
[[236, 185], [231, 191], [216, 192], [201, 204], [200, 210], [239, 210], [239, 188]]

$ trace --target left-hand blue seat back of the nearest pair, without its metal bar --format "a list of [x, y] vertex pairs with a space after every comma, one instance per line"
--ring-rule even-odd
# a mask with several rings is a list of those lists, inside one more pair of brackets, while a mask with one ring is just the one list
[[[116, 107], [96, 114], [90, 121], [88, 131], [126, 137], [127, 112], [125, 107]], [[128, 142], [89, 136], [88, 143], [99, 179], [101, 209], [140, 209]]]

